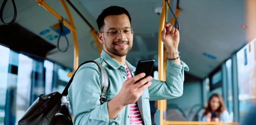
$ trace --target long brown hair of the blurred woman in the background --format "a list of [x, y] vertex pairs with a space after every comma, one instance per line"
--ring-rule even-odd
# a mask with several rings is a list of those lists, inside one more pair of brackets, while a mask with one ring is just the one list
[[208, 106], [205, 108], [205, 112], [203, 114], [203, 117], [206, 116], [208, 113], [212, 112], [212, 108], [210, 106], [210, 101], [212, 100], [213, 97], [217, 97], [220, 101], [220, 107], [216, 110], [216, 112], [218, 112], [217, 114], [217, 118], [220, 119], [220, 115], [226, 110], [224, 101], [222, 99], [222, 97], [218, 94], [212, 94], [212, 96], [210, 97], [209, 101], [208, 101]]

